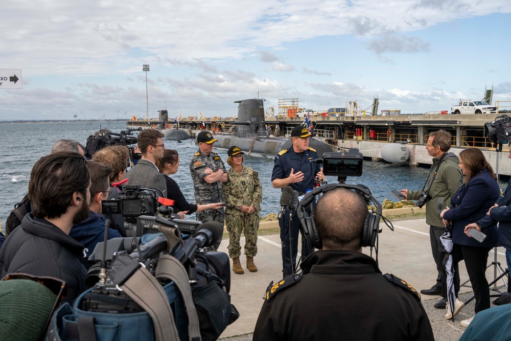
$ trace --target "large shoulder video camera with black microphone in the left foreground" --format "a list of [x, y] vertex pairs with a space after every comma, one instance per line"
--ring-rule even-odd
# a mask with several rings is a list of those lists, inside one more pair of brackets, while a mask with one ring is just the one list
[[[146, 203], [153, 202], [152, 199], [148, 200], [147, 197], [144, 197], [143, 192], [137, 191], [137, 189], [130, 190], [136, 194], [128, 194], [127, 197], [120, 200], [123, 202], [120, 205], [121, 210], [126, 210], [126, 213], [134, 215], [134, 212], [145, 206]], [[201, 335], [203, 332], [211, 332], [213, 324], [211, 321], [216, 321], [216, 328], [214, 328], [215, 333], [218, 334], [216, 337], [227, 325], [236, 321], [239, 313], [234, 305], [230, 304], [228, 295], [230, 290], [229, 257], [223, 252], [208, 251], [208, 247], [220, 243], [223, 224], [217, 221], [201, 223], [173, 217], [172, 208], [162, 204], [158, 208], [156, 216], [140, 215], [136, 217], [137, 227], [142, 226], [140, 231], [150, 233], [145, 234], [140, 241], [138, 238], [113, 238], [107, 242], [98, 243], [94, 253], [88, 259], [89, 263], [93, 265], [86, 277], [86, 284], [89, 287], [94, 286], [94, 289], [84, 295], [80, 302], [80, 309], [108, 313], [144, 311], [128, 294], [120, 290], [121, 283], [138, 267], [143, 266], [165, 288], [170, 281], [158, 277], [158, 262], [162, 256], [170, 255], [185, 268], [188, 275], [186, 283], [191, 286], [193, 303], [195, 306], [201, 307], [197, 308], [199, 322], [210, 321], [204, 325], [199, 323]], [[108, 232], [105, 231], [105, 240], [107, 235]], [[125, 266], [125, 264], [129, 265]], [[186, 301], [186, 298], [179, 297], [175, 301], [178, 307], [174, 309], [182, 310], [183, 300]], [[202, 303], [200, 303], [201, 301]], [[201, 304], [204, 304], [206, 308]], [[207, 317], [204, 317], [204, 314]], [[203, 336], [202, 339], [212, 338]]]

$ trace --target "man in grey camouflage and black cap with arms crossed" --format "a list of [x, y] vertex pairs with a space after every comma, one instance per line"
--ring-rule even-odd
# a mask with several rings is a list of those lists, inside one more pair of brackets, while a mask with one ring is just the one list
[[[220, 156], [213, 151], [213, 143], [217, 141], [209, 131], [201, 131], [197, 135], [199, 150], [190, 160], [195, 203], [207, 204], [224, 202], [222, 183], [227, 182], [227, 170]], [[224, 223], [223, 207], [208, 209], [195, 213], [196, 219], [202, 222], [218, 221]]]

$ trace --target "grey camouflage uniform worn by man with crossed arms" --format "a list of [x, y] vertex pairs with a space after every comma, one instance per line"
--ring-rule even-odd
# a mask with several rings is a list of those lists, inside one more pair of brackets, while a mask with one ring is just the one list
[[[193, 188], [195, 191], [195, 203], [206, 204], [224, 202], [222, 183], [220, 183], [220, 181], [216, 181], [216, 183], [208, 184], [204, 180], [204, 176], [208, 175], [204, 173], [206, 168], [211, 168], [214, 172], [222, 169], [224, 173], [227, 173], [227, 170], [217, 153], [212, 151], [210, 155], [206, 155], [199, 149], [190, 161], [190, 173], [192, 174]], [[215, 220], [222, 224], [224, 223], [223, 208], [197, 212], [195, 213], [195, 217], [199, 221]]]

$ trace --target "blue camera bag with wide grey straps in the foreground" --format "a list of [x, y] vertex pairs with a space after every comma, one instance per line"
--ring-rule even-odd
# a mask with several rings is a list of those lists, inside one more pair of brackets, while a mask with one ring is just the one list
[[91, 288], [76, 299], [73, 307], [65, 303], [55, 312], [48, 340], [200, 341], [197, 312], [184, 266], [172, 256], [162, 256], [160, 262], [162, 259], [170, 261], [162, 262], [160, 271], [171, 272], [173, 278], [162, 287], [137, 260], [129, 256], [118, 259], [122, 261], [112, 264], [110, 276], [145, 311], [109, 313], [82, 310], [81, 301], [93, 290]]

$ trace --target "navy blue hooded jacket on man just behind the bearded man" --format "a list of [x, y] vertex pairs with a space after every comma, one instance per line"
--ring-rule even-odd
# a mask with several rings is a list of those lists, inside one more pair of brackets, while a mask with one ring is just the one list
[[[90, 267], [88, 263], [89, 256], [94, 252], [96, 244], [102, 242], [105, 238], [105, 218], [97, 214], [96, 212], [89, 212], [89, 217], [73, 225], [69, 236], [73, 237], [77, 242], [83, 245], [83, 254], [81, 261], [86, 269]], [[108, 239], [121, 237], [121, 234], [117, 230], [108, 230]]]

